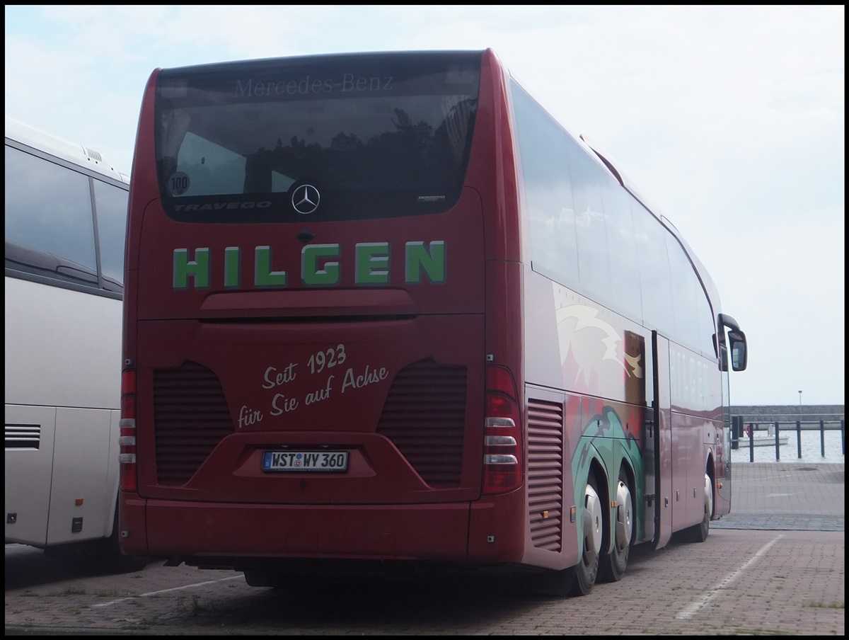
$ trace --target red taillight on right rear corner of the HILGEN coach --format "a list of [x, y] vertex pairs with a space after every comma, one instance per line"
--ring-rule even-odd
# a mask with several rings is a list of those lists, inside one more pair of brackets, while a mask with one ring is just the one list
[[483, 493], [518, 488], [522, 481], [521, 421], [516, 385], [509, 369], [486, 370], [486, 422], [483, 446]]

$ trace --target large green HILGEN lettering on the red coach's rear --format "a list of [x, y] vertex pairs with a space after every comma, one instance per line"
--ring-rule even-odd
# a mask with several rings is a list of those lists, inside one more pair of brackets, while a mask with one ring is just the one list
[[[350, 263], [342, 263], [343, 256], [351, 256]], [[238, 289], [242, 283], [242, 249], [228, 246], [221, 257], [224, 266], [225, 288]], [[208, 289], [212, 277], [212, 250], [201, 246], [189, 251], [174, 249], [172, 285], [177, 291], [190, 288]], [[271, 246], [254, 248], [253, 283], [262, 288], [290, 286], [290, 274], [285, 269], [273, 269]], [[444, 284], [447, 279], [445, 241], [410, 241], [404, 245], [402, 267], [404, 282], [419, 285]], [[389, 242], [358, 242], [353, 252], [342, 251], [339, 244], [307, 245], [301, 249], [300, 276], [303, 286], [326, 287], [341, 283], [343, 269], [351, 269], [357, 285], [381, 286], [391, 284], [393, 263]]]

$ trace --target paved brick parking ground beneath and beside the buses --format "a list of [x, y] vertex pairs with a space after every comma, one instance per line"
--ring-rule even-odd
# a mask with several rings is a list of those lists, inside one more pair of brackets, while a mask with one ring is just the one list
[[[151, 563], [80, 576], [6, 547], [6, 635], [845, 636], [844, 465], [734, 463], [701, 544], [634, 547], [582, 598], [499, 581], [357, 581], [279, 592]], [[10, 548], [11, 547], [11, 548]]]

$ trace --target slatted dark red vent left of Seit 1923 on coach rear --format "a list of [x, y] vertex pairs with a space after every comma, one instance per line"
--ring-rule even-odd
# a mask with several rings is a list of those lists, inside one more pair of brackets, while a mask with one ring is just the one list
[[194, 362], [155, 370], [154, 433], [159, 484], [186, 484], [216, 445], [233, 433], [218, 377]]

